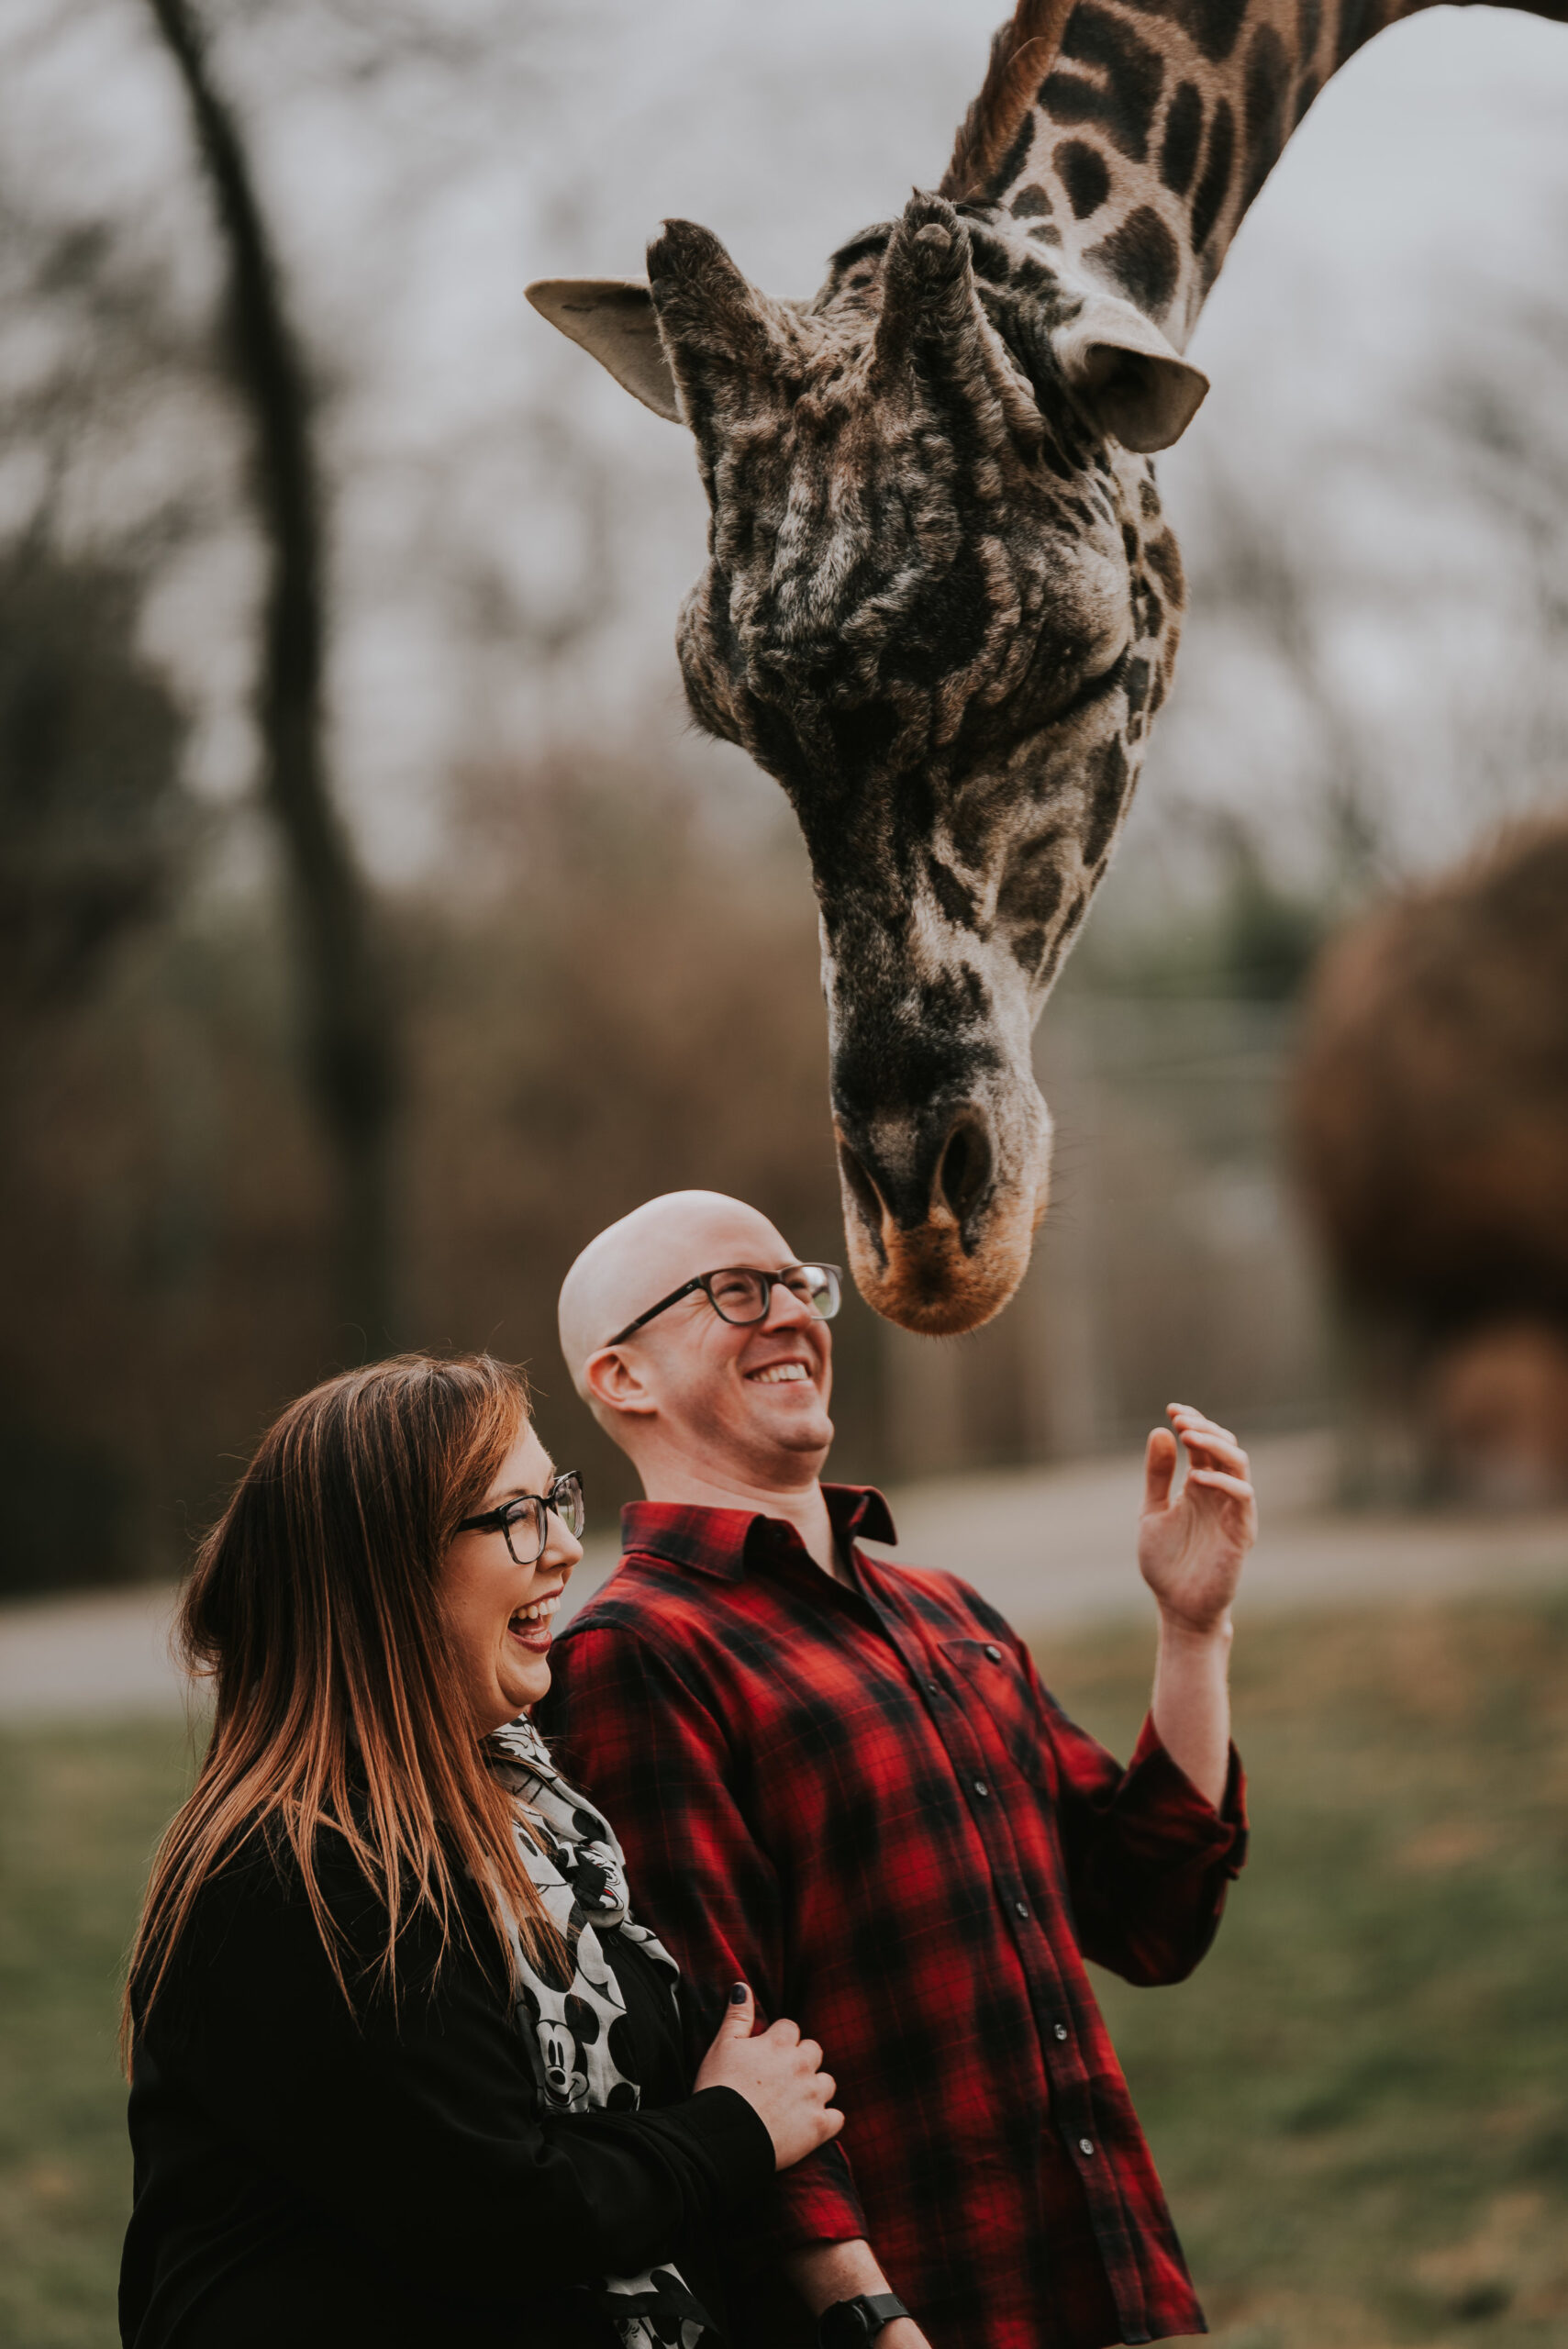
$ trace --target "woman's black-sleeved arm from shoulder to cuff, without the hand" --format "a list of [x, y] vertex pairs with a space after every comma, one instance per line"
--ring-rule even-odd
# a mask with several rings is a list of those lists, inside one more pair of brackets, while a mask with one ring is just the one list
[[[333, 1914], [376, 1945], [369, 1886], [324, 1860]], [[486, 1950], [488, 1926], [467, 1912]], [[488, 1957], [488, 1952], [486, 1952]], [[653, 2114], [540, 2119], [498, 1978], [453, 1919], [404, 1936], [406, 1983], [359, 2015], [303, 1891], [256, 1860], [207, 1889], [148, 2027], [148, 2051], [228, 2138], [406, 2271], [481, 2300], [634, 2274], [772, 2178], [763, 2121], [732, 2088]], [[498, 1964], [491, 1968], [498, 1976]]]

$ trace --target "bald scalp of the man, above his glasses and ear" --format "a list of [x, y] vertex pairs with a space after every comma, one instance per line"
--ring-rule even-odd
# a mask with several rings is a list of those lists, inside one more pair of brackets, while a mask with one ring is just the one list
[[582, 1374], [589, 1355], [683, 1280], [723, 1264], [772, 1271], [789, 1261], [768, 1217], [723, 1191], [664, 1191], [646, 1200], [589, 1240], [561, 1285], [561, 1353], [573, 1386], [592, 1407]]

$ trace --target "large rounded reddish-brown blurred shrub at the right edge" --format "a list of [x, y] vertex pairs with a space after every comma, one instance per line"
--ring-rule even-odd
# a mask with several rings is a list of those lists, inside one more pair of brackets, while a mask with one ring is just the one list
[[1329, 947], [1296, 1153], [1364, 1388], [1368, 1492], [1568, 1499], [1568, 822]]

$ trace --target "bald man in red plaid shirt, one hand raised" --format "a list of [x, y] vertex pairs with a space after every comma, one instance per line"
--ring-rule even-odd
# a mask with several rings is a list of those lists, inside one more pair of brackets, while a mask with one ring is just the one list
[[1246, 1454], [1185, 1405], [1148, 1440], [1160, 1651], [1122, 1766], [967, 1583], [859, 1548], [894, 1529], [880, 1494], [822, 1485], [836, 1311], [836, 1266], [711, 1191], [613, 1224], [561, 1292], [577, 1393], [646, 1501], [540, 1727], [615, 1818], [695, 2046], [746, 1980], [761, 2020], [822, 2039], [847, 2114], [737, 2246], [737, 2349], [1199, 2333], [1084, 1959], [1181, 1980], [1242, 1865]]

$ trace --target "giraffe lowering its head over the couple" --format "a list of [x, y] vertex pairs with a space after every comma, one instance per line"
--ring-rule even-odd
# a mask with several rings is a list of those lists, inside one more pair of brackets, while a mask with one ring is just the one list
[[998, 1313], [1047, 1207], [1030, 1036], [1171, 686], [1188, 338], [1322, 85], [1422, 5], [1019, 0], [939, 190], [810, 301], [692, 221], [646, 284], [528, 287], [695, 439], [685, 693], [805, 834], [850, 1264], [906, 1330]]

